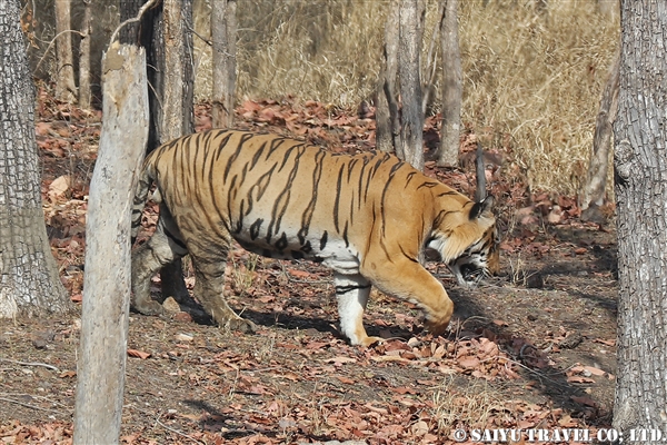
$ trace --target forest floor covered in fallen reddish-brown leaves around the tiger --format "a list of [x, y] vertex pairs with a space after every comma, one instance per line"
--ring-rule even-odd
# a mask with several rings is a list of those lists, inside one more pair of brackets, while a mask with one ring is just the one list
[[[56, 103], [43, 91], [39, 105], [47, 225], [62, 281], [80, 308], [100, 116]], [[247, 101], [237, 117], [239, 128], [289, 131], [354, 151], [375, 145], [370, 112]], [[206, 106], [198, 107], [197, 122], [198, 130], [210, 127]], [[428, 147], [437, 139], [427, 128]], [[462, 142], [466, 159], [472, 136]], [[446, 266], [429, 263], [456, 305], [448, 336], [422, 333], [415, 306], [374, 291], [366, 326], [387, 340], [349, 346], [336, 328], [326, 268], [237, 248], [228, 300], [258, 333], [221, 332], [196, 305], [165, 318], [130, 314], [122, 443], [449, 444], [457, 428], [468, 435], [474, 428], [583, 428], [593, 438], [609, 427], [613, 224], [580, 221], [567, 197], [527, 196], [511, 151], [498, 147], [490, 156], [502, 158], [489, 171], [502, 273], [461, 288]], [[461, 169], [427, 164], [429, 175], [468, 196], [472, 170], [470, 162]], [[147, 212], [149, 228], [155, 207]], [[193, 278], [186, 280], [191, 286]], [[71, 443], [79, 337], [80, 309], [71, 317], [0, 322], [0, 441]]]

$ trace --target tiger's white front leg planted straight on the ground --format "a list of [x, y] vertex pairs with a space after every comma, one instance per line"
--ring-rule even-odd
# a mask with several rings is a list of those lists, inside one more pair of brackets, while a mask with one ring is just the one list
[[352, 345], [370, 346], [381, 343], [380, 337], [369, 337], [364, 328], [364, 310], [370, 295], [370, 281], [361, 275], [334, 274], [340, 330]]

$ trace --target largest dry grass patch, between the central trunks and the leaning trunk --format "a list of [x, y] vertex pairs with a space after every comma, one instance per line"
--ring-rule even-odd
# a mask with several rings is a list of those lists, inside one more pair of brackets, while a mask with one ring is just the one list
[[617, 19], [593, 1], [462, 2], [464, 121], [514, 152], [531, 190], [574, 195], [588, 165]]

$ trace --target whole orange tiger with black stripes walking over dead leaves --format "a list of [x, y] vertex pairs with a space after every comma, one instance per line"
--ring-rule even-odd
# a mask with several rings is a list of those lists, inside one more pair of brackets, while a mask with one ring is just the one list
[[340, 333], [365, 347], [382, 342], [368, 336], [362, 323], [371, 286], [417, 305], [427, 329], [445, 333], [454, 303], [424, 267], [427, 248], [462, 285], [498, 271], [494, 197], [472, 201], [390, 154], [335, 154], [240, 130], [172, 140], [143, 161], [133, 240], [153, 182], [157, 227], [132, 253], [131, 305], [140, 314], [163, 312], [151, 299], [151, 277], [190, 255], [193, 296], [203, 309], [221, 327], [253, 333], [255, 324], [222, 296], [232, 239], [265, 257], [310, 259], [332, 269]]

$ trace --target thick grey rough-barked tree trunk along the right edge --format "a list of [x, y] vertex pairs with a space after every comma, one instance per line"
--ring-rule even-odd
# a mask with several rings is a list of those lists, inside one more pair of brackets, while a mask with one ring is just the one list
[[620, 23], [620, 88], [614, 123], [619, 298], [613, 425], [624, 432], [655, 428], [665, 434], [667, 58], [663, 30], [667, 3], [624, 0]]

